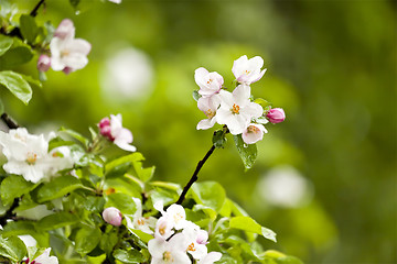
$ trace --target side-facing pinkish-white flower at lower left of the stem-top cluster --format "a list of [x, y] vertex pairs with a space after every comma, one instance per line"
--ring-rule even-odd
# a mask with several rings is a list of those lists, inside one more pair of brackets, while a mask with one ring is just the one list
[[221, 99], [218, 95], [214, 95], [212, 97], [201, 97], [197, 100], [197, 107], [202, 110], [207, 119], [203, 119], [197, 123], [197, 130], [206, 130], [214, 127], [216, 122], [216, 111], [221, 106]]

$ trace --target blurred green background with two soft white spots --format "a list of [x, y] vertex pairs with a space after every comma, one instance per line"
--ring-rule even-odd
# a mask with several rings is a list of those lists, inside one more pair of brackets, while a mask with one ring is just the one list
[[[12, 1], [32, 10], [36, 1]], [[255, 97], [282, 107], [253, 169], [233, 145], [217, 150], [200, 180], [217, 180], [278, 233], [268, 249], [305, 263], [397, 263], [396, 2], [385, 0], [47, 0], [39, 23], [69, 18], [93, 44], [89, 64], [49, 72], [28, 107], [4, 89], [7, 112], [33, 132], [88, 127], [122, 113], [155, 178], [182, 186], [211, 146], [192, 91], [194, 70], [232, 87], [233, 61], [259, 55], [268, 68]], [[17, 69], [37, 76], [35, 62]], [[3, 95], [7, 94], [7, 95]]]

